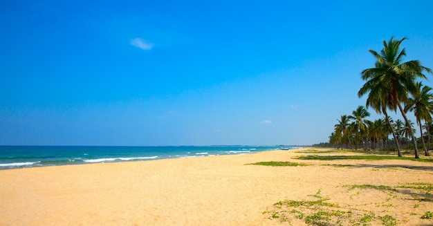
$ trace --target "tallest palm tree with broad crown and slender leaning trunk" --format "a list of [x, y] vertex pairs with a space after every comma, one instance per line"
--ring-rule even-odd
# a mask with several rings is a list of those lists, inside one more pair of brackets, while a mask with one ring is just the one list
[[[423, 71], [432, 73], [430, 68], [421, 66], [418, 60], [403, 62], [403, 57], [406, 55], [406, 50], [400, 50], [400, 44], [405, 40], [394, 40], [391, 37], [389, 41], [383, 41], [383, 49], [380, 54], [374, 50], [369, 52], [376, 57], [374, 68], [367, 68], [362, 70], [361, 77], [366, 80], [369, 87], [380, 87], [379, 92], [387, 92], [387, 109], [396, 111], [398, 109], [403, 116], [403, 119], [408, 124], [408, 120], [401, 103], [406, 102], [408, 93], [416, 93], [415, 79], [417, 77], [427, 79]], [[366, 84], [367, 84], [366, 83]], [[385, 94], [383, 95], [385, 96]], [[416, 146], [416, 139], [414, 133], [409, 127], [409, 135], [414, 142], [415, 158], [418, 156], [418, 147]]]

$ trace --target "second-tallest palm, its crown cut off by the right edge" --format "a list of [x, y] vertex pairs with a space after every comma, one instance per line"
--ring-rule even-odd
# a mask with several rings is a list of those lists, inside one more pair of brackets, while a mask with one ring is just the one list
[[427, 148], [425, 147], [421, 120], [424, 120], [425, 122], [432, 122], [431, 112], [433, 110], [433, 95], [430, 93], [432, 88], [429, 86], [423, 86], [421, 82], [417, 82], [416, 87], [418, 87], [418, 92], [413, 93], [412, 97], [409, 97], [405, 106], [405, 110], [414, 111], [416, 124], [419, 126], [421, 140], [423, 141], [424, 154], [425, 156], [430, 156]]

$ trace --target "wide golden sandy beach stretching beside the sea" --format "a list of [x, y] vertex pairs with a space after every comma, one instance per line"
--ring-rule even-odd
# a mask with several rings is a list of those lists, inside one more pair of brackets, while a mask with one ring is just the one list
[[[374, 215], [371, 225], [386, 216], [433, 225], [421, 218], [433, 211], [431, 194], [405, 188], [432, 184], [431, 162], [293, 159], [311, 154], [300, 151], [3, 170], [0, 225], [307, 225], [277, 216], [274, 204], [284, 200], [324, 200], [352, 220]], [[266, 161], [308, 165], [250, 164]]]

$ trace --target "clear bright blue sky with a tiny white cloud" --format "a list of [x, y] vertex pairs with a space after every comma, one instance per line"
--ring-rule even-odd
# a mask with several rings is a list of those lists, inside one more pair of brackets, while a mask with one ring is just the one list
[[326, 142], [340, 115], [365, 104], [357, 93], [360, 72], [374, 66], [368, 49], [408, 37], [405, 60], [433, 67], [432, 8], [427, 0], [6, 1], [0, 144]]

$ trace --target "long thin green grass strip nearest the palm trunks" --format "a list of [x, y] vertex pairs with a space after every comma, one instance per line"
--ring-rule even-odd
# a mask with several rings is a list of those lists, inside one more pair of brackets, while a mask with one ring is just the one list
[[430, 158], [398, 157], [398, 156], [295, 156], [300, 160], [411, 160], [418, 162], [433, 162]]

